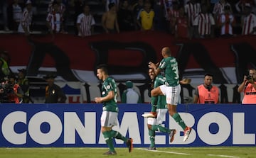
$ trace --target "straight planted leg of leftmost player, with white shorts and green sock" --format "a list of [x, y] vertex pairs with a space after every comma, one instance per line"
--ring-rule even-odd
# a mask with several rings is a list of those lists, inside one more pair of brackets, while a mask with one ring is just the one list
[[111, 130], [112, 130], [112, 120], [111, 119], [107, 119], [109, 118], [108, 116], [110, 116], [110, 111], [102, 111], [102, 115], [100, 118], [100, 123], [101, 123], [101, 131], [103, 134], [103, 137], [107, 143], [107, 146], [109, 147], [109, 151], [105, 152], [104, 154], [117, 154], [117, 152], [115, 152], [114, 150], [114, 144], [113, 144], [113, 138], [111, 135]]

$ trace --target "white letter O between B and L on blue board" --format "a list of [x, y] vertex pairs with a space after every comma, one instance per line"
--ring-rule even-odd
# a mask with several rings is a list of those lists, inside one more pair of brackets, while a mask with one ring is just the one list
[[[209, 131], [209, 126], [212, 123], [216, 123], [218, 125], [218, 132], [215, 134]], [[222, 113], [206, 113], [200, 118], [200, 120], [198, 120], [197, 132], [198, 136], [203, 142], [206, 142], [206, 144], [220, 145], [230, 136], [230, 121]]]

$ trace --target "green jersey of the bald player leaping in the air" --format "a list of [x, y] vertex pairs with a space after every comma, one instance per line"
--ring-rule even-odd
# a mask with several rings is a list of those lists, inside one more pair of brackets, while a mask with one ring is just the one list
[[166, 57], [159, 64], [160, 69], [164, 69], [166, 86], [177, 86], [179, 84], [178, 62], [174, 57]]

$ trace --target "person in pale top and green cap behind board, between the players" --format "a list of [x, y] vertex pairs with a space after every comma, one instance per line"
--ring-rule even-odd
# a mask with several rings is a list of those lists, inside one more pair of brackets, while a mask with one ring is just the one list
[[122, 94], [122, 103], [142, 103], [142, 98], [137, 91], [133, 89], [132, 81], [126, 81], [125, 85], [127, 87]]

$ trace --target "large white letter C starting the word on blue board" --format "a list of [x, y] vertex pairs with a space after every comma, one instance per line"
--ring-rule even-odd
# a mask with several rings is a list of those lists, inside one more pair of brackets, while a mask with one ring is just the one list
[[26, 113], [23, 111], [9, 113], [9, 115], [6, 115], [1, 125], [4, 138], [14, 145], [26, 144], [27, 132], [17, 133], [14, 131], [14, 125], [19, 122], [26, 125]]

